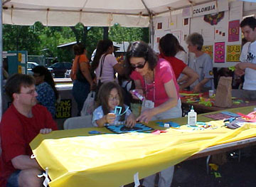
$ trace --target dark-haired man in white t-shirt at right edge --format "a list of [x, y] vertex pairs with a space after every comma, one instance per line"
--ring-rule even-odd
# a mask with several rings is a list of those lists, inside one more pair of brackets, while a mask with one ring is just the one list
[[256, 18], [247, 17], [240, 23], [242, 33], [248, 41], [242, 47], [241, 63], [235, 65], [236, 75], [245, 75], [242, 89], [246, 100], [256, 100]]

